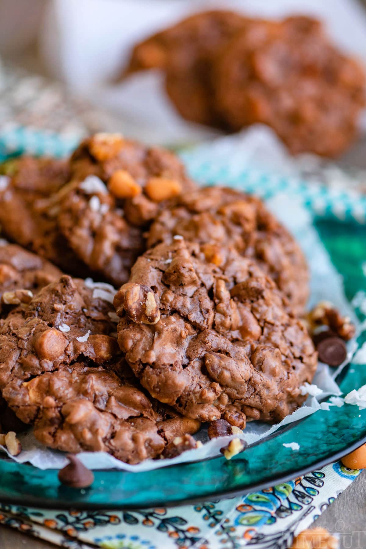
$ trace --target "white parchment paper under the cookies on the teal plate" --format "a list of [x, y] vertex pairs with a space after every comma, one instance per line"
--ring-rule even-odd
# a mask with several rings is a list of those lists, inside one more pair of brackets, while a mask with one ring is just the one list
[[[300, 243], [305, 252], [311, 272], [311, 299], [309, 306], [313, 306], [320, 300], [328, 300], [342, 312], [343, 315], [348, 315], [356, 323], [358, 330], [361, 329], [360, 323], [354, 311], [346, 299], [343, 291], [342, 278], [336, 271], [330, 261], [329, 255], [326, 252], [316, 229], [312, 225], [311, 214], [297, 203], [294, 198], [288, 198], [285, 195], [278, 194], [273, 199], [267, 202], [269, 209], [278, 216], [278, 218], [289, 228], [295, 238]], [[330, 395], [340, 395], [341, 391], [335, 382], [336, 376], [341, 372], [341, 369], [350, 362], [351, 357], [357, 350], [356, 341], [352, 340], [347, 345], [348, 356], [342, 365], [336, 370], [329, 366], [320, 363], [314, 377], [313, 384], [316, 384], [323, 393], [317, 397], [309, 396], [305, 404], [286, 417], [276, 425], [268, 425], [263, 422], [249, 422], [246, 429], [243, 431], [243, 438], [248, 444], [263, 439], [277, 431], [280, 427], [291, 422], [299, 421], [299, 419], [309, 416], [320, 409], [319, 400], [323, 400]], [[238, 436], [238, 435], [236, 435]], [[219, 455], [222, 447], [226, 446], [230, 439], [235, 436], [225, 436], [209, 441], [207, 429], [203, 427], [195, 437], [203, 442], [203, 446], [196, 450], [189, 450], [170, 460], [146, 460], [137, 465], [128, 465], [108, 453], [104, 452], [82, 452], [78, 454], [78, 458], [85, 464], [86, 467], [92, 469], [123, 469], [128, 471], [140, 472], [167, 467], [171, 464], [184, 463], [190, 461], [204, 460], [209, 457]], [[67, 464], [67, 459], [63, 452], [53, 451], [42, 446], [32, 432], [19, 436], [23, 450], [19, 456], [13, 459], [19, 463], [30, 462], [33, 466], [40, 469], [62, 468]], [[301, 441], [292, 441], [299, 442]], [[289, 449], [289, 452], [292, 450]], [[11, 456], [10, 456], [11, 457]]]

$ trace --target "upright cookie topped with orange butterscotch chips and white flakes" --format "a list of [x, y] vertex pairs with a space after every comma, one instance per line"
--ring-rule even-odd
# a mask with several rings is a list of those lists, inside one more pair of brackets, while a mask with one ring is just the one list
[[145, 249], [151, 219], [167, 199], [195, 186], [172, 153], [120, 135], [87, 139], [70, 167], [74, 187], [60, 205], [59, 227], [89, 268], [120, 285]]

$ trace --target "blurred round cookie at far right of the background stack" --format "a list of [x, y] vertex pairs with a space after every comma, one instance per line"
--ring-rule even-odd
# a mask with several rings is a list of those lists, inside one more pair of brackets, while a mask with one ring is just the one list
[[319, 21], [248, 20], [215, 65], [217, 109], [233, 130], [262, 122], [291, 153], [341, 154], [365, 105], [365, 71]]

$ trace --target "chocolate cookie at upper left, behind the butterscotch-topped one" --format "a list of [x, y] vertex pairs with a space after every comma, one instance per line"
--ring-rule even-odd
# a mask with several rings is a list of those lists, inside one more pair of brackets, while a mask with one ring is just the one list
[[5, 164], [0, 179], [0, 223], [9, 239], [46, 257], [65, 271], [89, 271], [67, 245], [57, 225], [58, 204], [51, 198], [69, 180], [66, 160], [22, 156]]

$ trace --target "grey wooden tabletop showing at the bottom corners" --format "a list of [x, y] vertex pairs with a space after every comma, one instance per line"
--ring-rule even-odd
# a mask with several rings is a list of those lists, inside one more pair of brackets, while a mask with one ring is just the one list
[[[366, 472], [342, 492], [334, 503], [313, 523], [340, 535], [341, 549], [366, 547]], [[46, 549], [54, 545], [35, 540], [0, 526], [0, 549]]]

